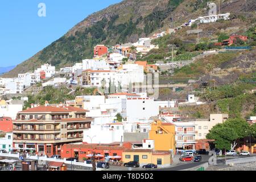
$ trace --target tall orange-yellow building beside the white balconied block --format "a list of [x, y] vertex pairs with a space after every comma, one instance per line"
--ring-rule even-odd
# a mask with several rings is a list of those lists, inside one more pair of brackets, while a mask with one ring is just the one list
[[175, 125], [155, 120], [151, 123], [149, 139], [155, 141], [155, 150], [175, 152]]

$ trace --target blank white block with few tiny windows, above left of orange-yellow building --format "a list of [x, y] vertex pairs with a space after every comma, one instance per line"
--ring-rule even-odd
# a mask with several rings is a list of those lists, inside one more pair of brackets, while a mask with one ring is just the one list
[[159, 114], [153, 98], [127, 98], [122, 100], [122, 115], [129, 123], [150, 119]]

